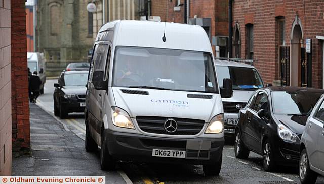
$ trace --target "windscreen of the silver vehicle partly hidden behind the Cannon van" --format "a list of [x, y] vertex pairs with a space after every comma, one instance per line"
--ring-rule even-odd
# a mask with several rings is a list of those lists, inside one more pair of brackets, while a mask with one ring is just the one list
[[223, 86], [223, 79], [229, 78], [233, 83], [233, 90], [255, 90], [263, 87], [261, 77], [256, 69], [246, 67], [216, 66], [219, 86]]

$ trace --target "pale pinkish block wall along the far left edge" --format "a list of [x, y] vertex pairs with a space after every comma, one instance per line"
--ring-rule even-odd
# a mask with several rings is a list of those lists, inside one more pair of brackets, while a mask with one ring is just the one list
[[0, 1], [0, 175], [11, 175], [10, 1]]

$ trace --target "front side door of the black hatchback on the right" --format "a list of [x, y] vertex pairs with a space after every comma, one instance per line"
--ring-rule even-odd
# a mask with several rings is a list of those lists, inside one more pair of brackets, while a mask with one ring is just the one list
[[256, 97], [254, 106], [249, 109], [250, 116], [247, 124], [247, 136], [250, 140], [250, 148], [258, 153], [261, 152], [261, 130], [262, 120], [258, 117], [258, 111], [268, 104], [268, 97], [264, 91], [260, 91]]

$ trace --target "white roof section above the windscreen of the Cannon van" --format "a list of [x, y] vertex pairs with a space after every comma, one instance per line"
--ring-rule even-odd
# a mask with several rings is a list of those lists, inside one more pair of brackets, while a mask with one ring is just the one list
[[[164, 28], [166, 42], [163, 42]], [[136, 20], [116, 20], [104, 24], [100, 33], [114, 32], [111, 41], [115, 46], [137, 46], [212, 52], [210, 40], [201, 26]]]

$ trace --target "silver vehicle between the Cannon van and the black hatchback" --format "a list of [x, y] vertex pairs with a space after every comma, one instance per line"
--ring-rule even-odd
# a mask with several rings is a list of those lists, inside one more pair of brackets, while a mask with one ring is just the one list
[[225, 136], [234, 136], [239, 110], [246, 106], [252, 93], [263, 88], [264, 84], [258, 70], [252, 65], [221, 59], [216, 59], [215, 65], [219, 86], [223, 86], [225, 78], [233, 83], [233, 96], [222, 98], [222, 101]]

